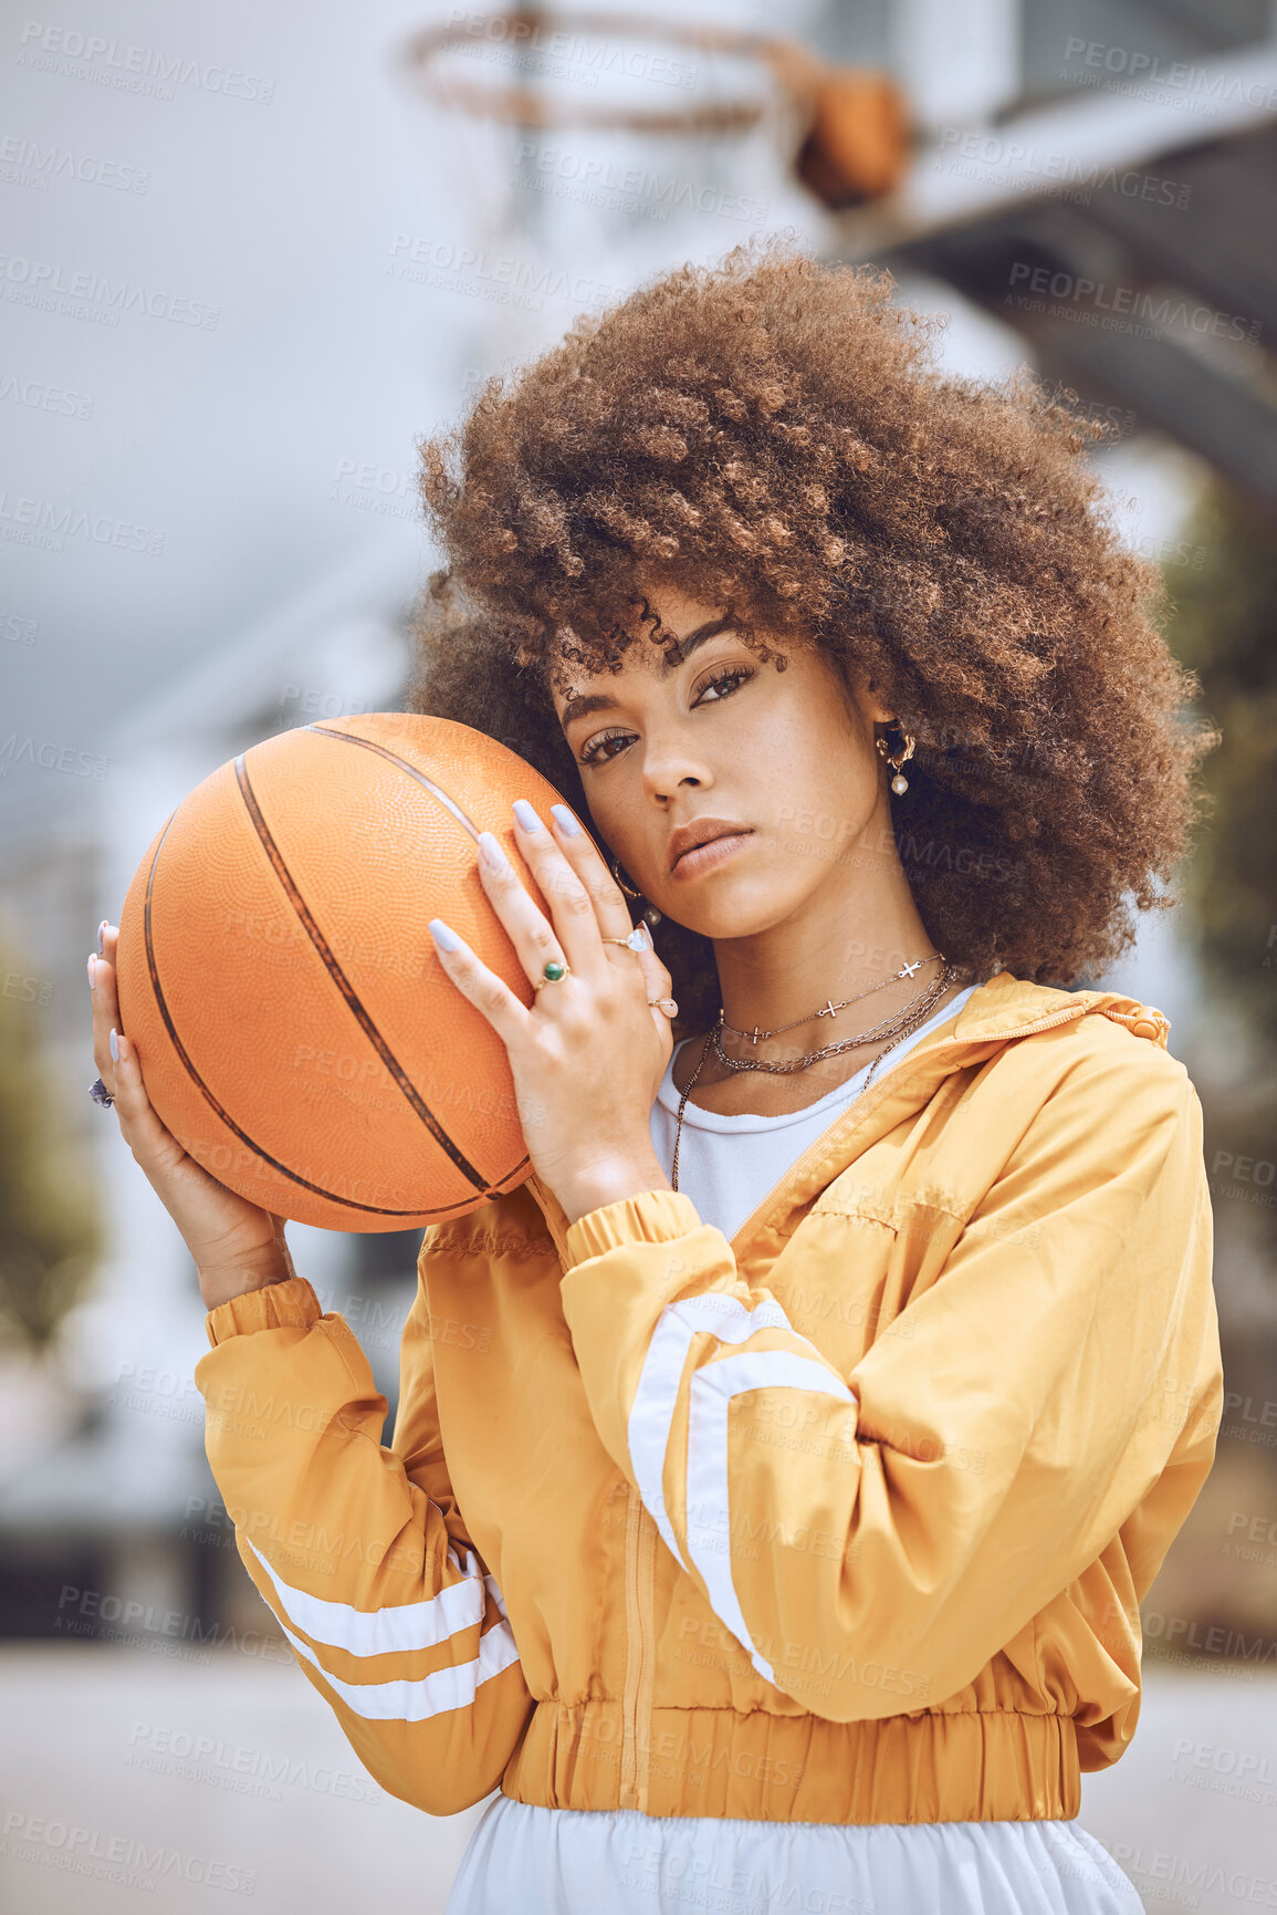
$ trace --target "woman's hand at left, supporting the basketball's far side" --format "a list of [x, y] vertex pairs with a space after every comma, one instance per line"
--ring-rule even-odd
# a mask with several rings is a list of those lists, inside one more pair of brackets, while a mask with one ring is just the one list
[[[213, 1310], [228, 1296], [293, 1277], [293, 1258], [283, 1241], [283, 1220], [235, 1197], [182, 1149], [151, 1109], [142, 1084], [138, 1055], [121, 1032], [115, 994], [119, 929], [107, 925], [101, 958], [88, 959], [94, 992], [94, 1063], [115, 1097], [124, 1143], [146, 1172], [151, 1189], [182, 1231], [199, 1272], [199, 1295]], [[111, 1049], [115, 1032], [119, 1057]]]

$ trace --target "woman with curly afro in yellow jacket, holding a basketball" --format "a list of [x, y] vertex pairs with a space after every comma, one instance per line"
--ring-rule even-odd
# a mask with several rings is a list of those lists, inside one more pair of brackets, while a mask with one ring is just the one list
[[425, 1233], [391, 1448], [90, 959], [245, 1566], [391, 1792], [500, 1783], [452, 1915], [1139, 1909], [1080, 1773], [1214, 1459], [1210, 1205], [1166, 1021], [1070, 986], [1212, 739], [1066, 408], [888, 291], [737, 249], [423, 450], [410, 703], [572, 802], [548, 912], [484, 833], [530, 1005], [433, 925], [534, 1174]]

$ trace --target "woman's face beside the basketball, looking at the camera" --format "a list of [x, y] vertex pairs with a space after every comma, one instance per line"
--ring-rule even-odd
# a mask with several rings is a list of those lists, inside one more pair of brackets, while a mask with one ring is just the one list
[[[890, 710], [863, 686], [848, 695], [814, 647], [770, 640], [789, 661], [779, 672], [720, 609], [674, 590], [649, 603], [687, 651], [668, 676], [661, 647], [639, 640], [620, 672], [578, 670], [555, 693], [595, 831], [628, 883], [703, 936], [741, 938], [785, 923], [839, 877], [850, 890], [885, 848], [894, 862], [873, 743]], [[670, 835], [699, 818], [747, 835], [726, 856], [672, 869]]]

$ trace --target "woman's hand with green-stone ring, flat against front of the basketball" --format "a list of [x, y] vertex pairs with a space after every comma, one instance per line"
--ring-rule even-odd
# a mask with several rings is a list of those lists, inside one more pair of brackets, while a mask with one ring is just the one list
[[481, 846], [492, 845], [500, 864], [488, 866], [481, 852], [479, 871], [528, 980], [551, 959], [567, 959], [567, 977], [542, 984], [528, 1009], [461, 938], [446, 950], [446, 938], [456, 938], [450, 925], [435, 919], [431, 935], [452, 982], [505, 1044], [532, 1168], [572, 1224], [620, 1197], [670, 1189], [649, 1118], [674, 1038], [670, 1019], [655, 1009], [657, 998], [670, 996], [670, 973], [651, 944], [632, 952], [603, 942], [632, 935], [626, 900], [590, 833], [565, 829], [567, 806], [551, 806], [551, 816], [553, 833], [521, 799], [515, 843], [553, 923], [490, 831]]

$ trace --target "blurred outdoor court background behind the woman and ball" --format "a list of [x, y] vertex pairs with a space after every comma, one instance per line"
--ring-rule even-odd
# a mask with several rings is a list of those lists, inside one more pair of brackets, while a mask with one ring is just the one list
[[[1277, 1905], [1271, 0], [109, 0], [10, 11], [0, 90], [0, 1907], [444, 1905], [479, 1808], [371, 1783], [235, 1555], [195, 1272], [86, 1097], [84, 961], [216, 766], [400, 705], [417, 440], [773, 228], [890, 266], [953, 370], [1107, 421], [1223, 732], [1183, 904], [1097, 980], [1202, 1097], [1227, 1406], [1082, 1819], [1149, 1907]], [[419, 1233], [289, 1241], [389, 1442]]]

